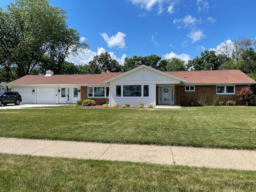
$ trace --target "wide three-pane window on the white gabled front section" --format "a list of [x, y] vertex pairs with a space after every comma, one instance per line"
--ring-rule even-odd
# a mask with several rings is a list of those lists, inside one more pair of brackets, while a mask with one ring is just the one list
[[116, 97], [149, 97], [149, 85], [116, 85]]

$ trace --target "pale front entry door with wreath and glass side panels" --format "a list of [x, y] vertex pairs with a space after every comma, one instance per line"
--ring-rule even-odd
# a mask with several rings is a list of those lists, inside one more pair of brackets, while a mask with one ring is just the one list
[[174, 105], [174, 86], [159, 86], [158, 104]]

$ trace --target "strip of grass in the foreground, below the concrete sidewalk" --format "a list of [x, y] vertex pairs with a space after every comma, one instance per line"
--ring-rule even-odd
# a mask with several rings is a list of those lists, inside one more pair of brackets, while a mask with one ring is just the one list
[[255, 192], [255, 171], [0, 154], [3, 192]]

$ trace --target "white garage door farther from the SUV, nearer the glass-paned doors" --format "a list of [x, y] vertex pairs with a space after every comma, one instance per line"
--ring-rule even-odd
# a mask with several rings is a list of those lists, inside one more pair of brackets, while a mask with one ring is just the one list
[[55, 104], [55, 88], [37, 88], [36, 104]]

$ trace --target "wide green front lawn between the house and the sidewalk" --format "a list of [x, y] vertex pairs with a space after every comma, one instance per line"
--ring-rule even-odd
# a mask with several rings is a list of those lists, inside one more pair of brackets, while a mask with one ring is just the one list
[[256, 149], [256, 107], [0, 110], [0, 136]]

